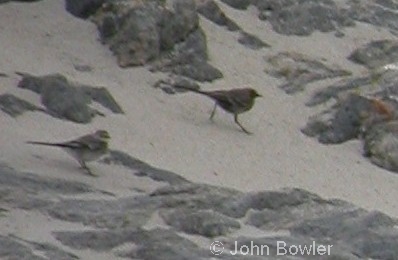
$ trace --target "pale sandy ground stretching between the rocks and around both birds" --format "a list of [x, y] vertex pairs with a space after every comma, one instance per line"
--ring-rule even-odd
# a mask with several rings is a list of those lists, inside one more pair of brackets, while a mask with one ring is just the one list
[[[188, 93], [170, 96], [154, 89], [153, 83], [166, 75], [150, 73], [147, 68], [118, 68], [112, 53], [99, 43], [95, 26], [69, 15], [63, 0], [0, 5], [0, 72], [9, 75], [0, 78], [0, 93], [14, 93], [40, 105], [36, 94], [16, 88], [19, 76], [14, 72], [61, 73], [80, 83], [106, 86], [126, 112], [113, 115], [100, 108], [107, 116], [97, 117], [88, 125], [41, 113], [26, 113], [17, 119], [0, 113], [0, 162], [21, 171], [84, 181], [120, 196], [131, 193], [134, 188], [155, 189], [158, 184], [136, 178], [122, 167], [93, 163], [100, 177], [84, 176], [62, 151], [24, 143], [68, 140], [103, 128], [111, 133], [113, 149], [195, 182], [243, 191], [300, 187], [326, 198], [345, 199], [398, 217], [397, 176], [363, 158], [359, 141], [325, 146], [299, 131], [308, 116], [315, 113], [315, 109], [310, 110], [304, 103], [319, 83], [289, 96], [277, 88], [280, 82], [263, 71], [264, 56], [297, 51], [362, 73], [362, 68], [349, 63], [345, 57], [371, 39], [393, 36], [384, 30], [357, 24], [345, 31], [344, 38], [336, 38], [333, 33], [286, 37], [277, 35], [269, 25], [259, 21], [254, 9], [237, 11], [220, 5], [245, 31], [272, 45], [270, 49], [250, 50], [236, 41], [238, 33], [201, 19], [210, 62], [224, 74], [223, 79], [203, 84], [202, 88], [250, 85], [264, 95], [252, 111], [240, 118], [242, 124], [255, 133], [252, 136], [240, 132], [233, 118], [223, 111], [218, 111], [215, 122], [211, 123], [208, 120], [213, 107], [210, 100]], [[93, 71], [79, 72], [74, 65], [89, 65]], [[16, 214], [15, 226], [2, 226], [0, 230], [28, 232], [18, 224], [24, 221], [24, 213], [13, 214]], [[29, 217], [38, 221], [43, 218]]]

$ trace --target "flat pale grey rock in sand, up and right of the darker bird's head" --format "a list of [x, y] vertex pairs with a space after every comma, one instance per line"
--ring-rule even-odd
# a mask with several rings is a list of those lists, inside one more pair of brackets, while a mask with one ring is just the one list
[[320, 61], [295, 52], [278, 53], [266, 57], [266, 61], [268, 65], [265, 72], [284, 79], [286, 83], [279, 87], [288, 94], [301, 91], [305, 85], [317, 80], [351, 75], [337, 66], [328, 67]]

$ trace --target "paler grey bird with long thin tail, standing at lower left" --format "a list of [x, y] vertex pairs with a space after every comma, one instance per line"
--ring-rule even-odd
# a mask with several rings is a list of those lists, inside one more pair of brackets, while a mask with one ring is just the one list
[[60, 142], [60, 143], [48, 143], [38, 141], [27, 141], [28, 144], [33, 145], [46, 145], [59, 147], [65, 150], [69, 155], [75, 158], [80, 166], [85, 169], [91, 176], [96, 176], [88, 168], [86, 162], [94, 161], [99, 159], [101, 156], [108, 152], [108, 141], [110, 135], [106, 130], [97, 130], [94, 133], [83, 135], [74, 140]]

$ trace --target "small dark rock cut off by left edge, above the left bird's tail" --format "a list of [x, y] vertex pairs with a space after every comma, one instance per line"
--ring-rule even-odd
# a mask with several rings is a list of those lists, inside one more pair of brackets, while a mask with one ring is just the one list
[[12, 117], [22, 115], [26, 111], [43, 111], [43, 109], [12, 94], [0, 95], [0, 109]]

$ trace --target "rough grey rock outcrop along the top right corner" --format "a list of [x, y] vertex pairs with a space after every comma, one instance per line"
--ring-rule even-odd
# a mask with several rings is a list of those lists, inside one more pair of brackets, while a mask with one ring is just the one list
[[397, 4], [394, 1], [356, 1], [345, 4], [332, 0], [222, 0], [233, 8], [243, 10], [255, 5], [259, 18], [269, 22], [273, 29], [285, 35], [308, 36], [314, 31], [336, 31], [343, 36], [344, 27], [365, 22], [398, 33]]

